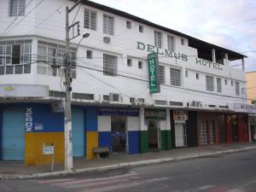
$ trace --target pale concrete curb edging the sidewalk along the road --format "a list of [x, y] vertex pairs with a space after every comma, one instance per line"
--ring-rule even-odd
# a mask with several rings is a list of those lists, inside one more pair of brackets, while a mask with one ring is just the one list
[[183, 155], [183, 156], [171, 157], [171, 158], [139, 160], [139, 161], [134, 161], [129, 163], [119, 163], [111, 166], [98, 166], [98, 167], [92, 167], [92, 168], [77, 169], [73, 171], [45, 172], [45, 173], [34, 173], [29, 175], [15, 175], [15, 176], [7, 176], [7, 177], [3, 176], [3, 177], [0, 177], [0, 180], [56, 177], [56, 176], [66, 176], [66, 175], [72, 175], [72, 174], [84, 173], [84, 172], [100, 172], [100, 171], [108, 171], [108, 170], [113, 170], [113, 169], [118, 169], [118, 168], [128, 167], [128, 166], [143, 166], [143, 165], [150, 165], [150, 164], [157, 164], [157, 163], [171, 162], [171, 161], [178, 161], [178, 160], [189, 160], [189, 159], [195, 159], [200, 157], [206, 157], [210, 155], [230, 154], [230, 153], [236, 153], [236, 152], [252, 150], [252, 149], [256, 149], [256, 146], [228, 149], [228, 150], [209, 152], [209, 153], [189, 154], [189, 155]]

